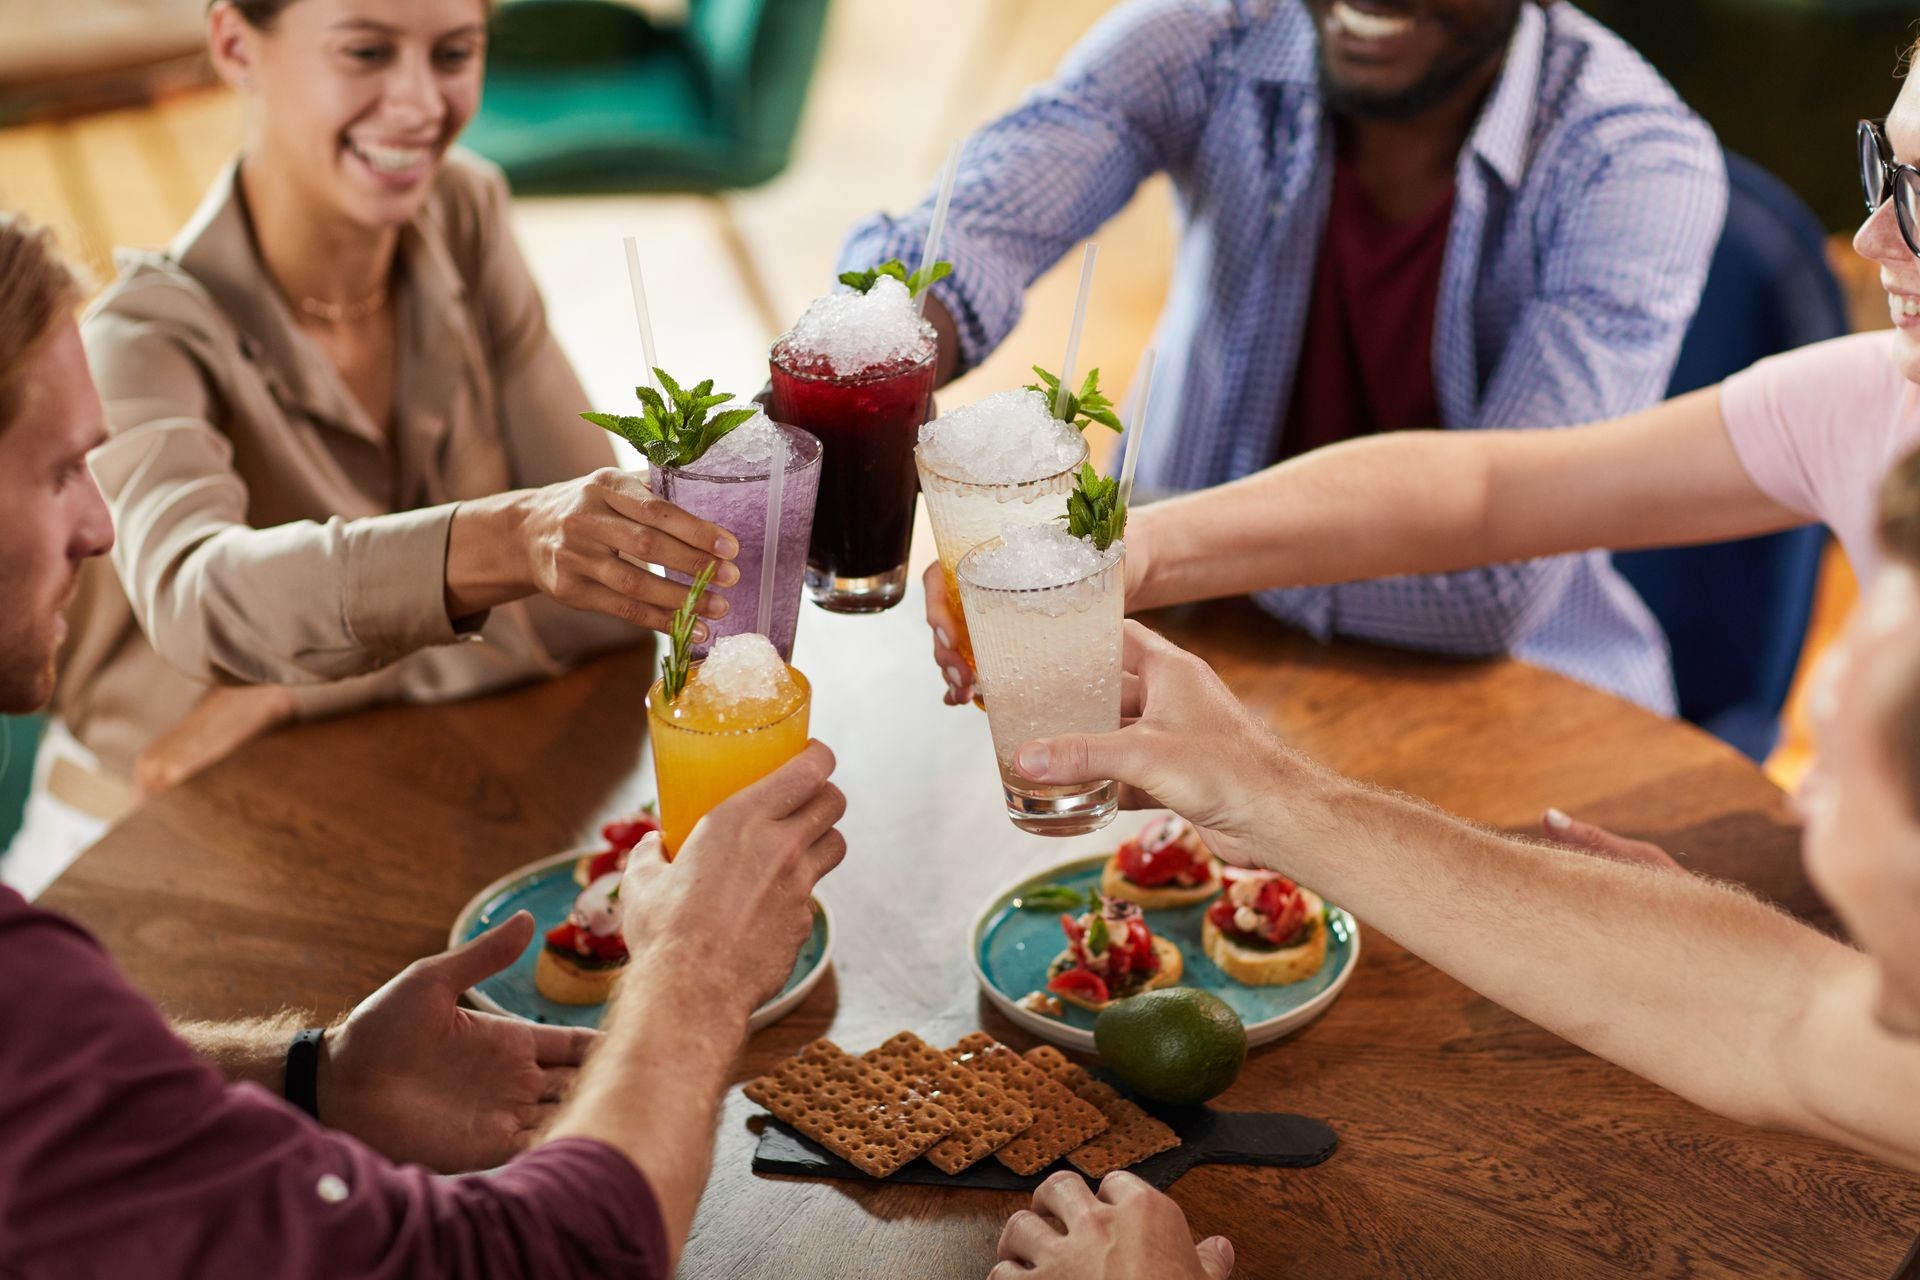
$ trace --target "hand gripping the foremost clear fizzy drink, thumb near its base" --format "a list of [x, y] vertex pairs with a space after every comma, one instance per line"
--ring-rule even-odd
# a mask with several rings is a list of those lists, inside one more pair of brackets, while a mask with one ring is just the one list
[[[1269, 865], [1290, 831], [1352, 787], [1283, 747], [1190, 652], [1125, 624], [1121, 729], [1025, 743], [1016, 754], [1037, 783], [1121, 783], [1121, 806], [1169, 808], [1208, 846], [1242, 867]], [[1283, 804], [1269, 804], [1279, 798]]]

